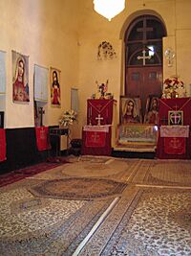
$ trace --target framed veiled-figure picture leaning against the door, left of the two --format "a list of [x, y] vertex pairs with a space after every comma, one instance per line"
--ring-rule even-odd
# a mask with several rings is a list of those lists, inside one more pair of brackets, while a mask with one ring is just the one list
[[121, 97], [121, 124], [141, 122], [140, 99]]

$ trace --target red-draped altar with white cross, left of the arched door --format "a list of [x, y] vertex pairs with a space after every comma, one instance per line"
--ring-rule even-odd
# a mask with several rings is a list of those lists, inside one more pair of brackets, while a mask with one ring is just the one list
[[111, 155], [116, 143], [115, 100], [88, 100], [87, 125], [82, 128], [82, 154]]

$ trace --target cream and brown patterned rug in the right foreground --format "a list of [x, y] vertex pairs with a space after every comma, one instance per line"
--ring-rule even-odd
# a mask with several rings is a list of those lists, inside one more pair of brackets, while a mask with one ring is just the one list
[[190, 191], [139, 190], [128, 203], [120, 199], [78, 255], [190, 255]]

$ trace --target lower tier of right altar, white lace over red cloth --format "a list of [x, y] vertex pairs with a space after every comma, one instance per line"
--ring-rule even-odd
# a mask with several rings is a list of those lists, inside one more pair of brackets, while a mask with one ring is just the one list
[[189, 126], [161, 126], [158, 157], [164, 159], [187, 159]]

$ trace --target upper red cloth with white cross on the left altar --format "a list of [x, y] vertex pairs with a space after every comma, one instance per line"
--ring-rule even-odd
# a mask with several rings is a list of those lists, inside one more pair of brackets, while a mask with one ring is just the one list
[[111, 125], [113, 119], [113, 105], [115, 100], [88, 100], [87, 124], [97, 125], [97, 117], [100, 115], [100, 125]]

